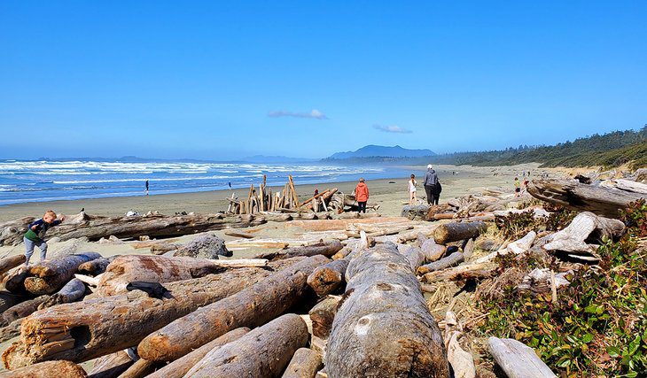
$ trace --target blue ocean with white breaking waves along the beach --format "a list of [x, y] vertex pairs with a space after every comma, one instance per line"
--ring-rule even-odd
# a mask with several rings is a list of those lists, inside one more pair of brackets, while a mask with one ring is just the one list
[[0, 205], [97, 197], [185, 193], [258, 186], [283, 186], [292, 174], [296, 184], [404, 177], [397, 167], [334, 166], [318, 163], [253, 164], [182, 161], [0, 160]]

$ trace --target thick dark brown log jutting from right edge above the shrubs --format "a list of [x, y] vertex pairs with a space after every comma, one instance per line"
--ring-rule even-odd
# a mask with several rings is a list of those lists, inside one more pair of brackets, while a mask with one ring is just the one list
[[557, 179], [533, 180], [528, 185], [528, 193], [551, 204], [561, 204], [581, 212], [594, 212], [608, 218], [618, 218], [620, 210], [647, 197], [644, 193]]

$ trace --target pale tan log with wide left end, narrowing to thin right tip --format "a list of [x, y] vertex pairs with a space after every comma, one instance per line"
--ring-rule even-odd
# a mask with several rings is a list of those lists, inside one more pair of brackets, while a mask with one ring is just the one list
[[[115, 258], [102, 274], [97, 286], [99, 296], [108, 297], [128, 291], [130, 282], [174, 282], [219, 273], [229, 266], [266, 266], [258, 259], [216, 260], [151, 255], [129, 255]], [[242, 262], [241, 262], [242, 261]]]

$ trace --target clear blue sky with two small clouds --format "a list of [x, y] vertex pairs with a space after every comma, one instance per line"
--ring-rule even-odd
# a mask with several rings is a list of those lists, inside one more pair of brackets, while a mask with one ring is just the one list
[[645, 1], [0, 2], [0, 158], [439, 153], [647, 124]]

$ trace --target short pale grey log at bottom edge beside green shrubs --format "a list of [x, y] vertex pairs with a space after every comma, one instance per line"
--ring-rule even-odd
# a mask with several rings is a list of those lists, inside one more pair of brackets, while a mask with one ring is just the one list
[[553, 378], [557, 377], [549, 366], [543, 363], [533, 348], [514, 339], [487, 339], [496, 364], [510, 378]]

